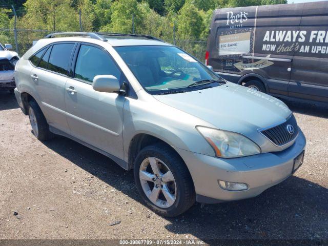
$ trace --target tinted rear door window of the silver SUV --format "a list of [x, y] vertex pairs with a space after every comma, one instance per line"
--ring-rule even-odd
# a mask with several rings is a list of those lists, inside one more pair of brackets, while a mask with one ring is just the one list
[[52, 46], [48, 70], [67, 74], [68, 64], [74, 44], [57, 44]]

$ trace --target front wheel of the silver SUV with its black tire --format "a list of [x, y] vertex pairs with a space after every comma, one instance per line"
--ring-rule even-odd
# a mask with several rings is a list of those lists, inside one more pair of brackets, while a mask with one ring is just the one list
[[[156, 165], [160, 166], [159, 170], [161, 174], [157, 178], [154, 172], [152, 173], [152, 166], [150, 164], [152, 159], [158, 161]], [[149, 164], [147, 164], [148, 162]], [[140, 170], [146, 166], [147, 169], [145, 171], [152, 174], [152, 177], [156, 178], [155, 180], [140, 180]], [[166, 182], [165, 177], [168, 176], [163, 174], [168, 174], [169, 171], [171, 171], [174, 181]], [[162, 177], [163, 181], [159, 181], [161, 179], [160, 177]], [[172, 179], [172, 176], [170, 177], [167, 180]], [[138, 153], [134, 162], [134, 179], [141, 198], [150, 209], [159, 215], [175, 217], [187, 211], [195, 203], [194, 184], [185, 163], [177, 153], [165, 144], [147, 146]], [[158, 193], [158, 202], [155, 204], [149, 198], [149, 193], [147, 195], [144, 189], [148, 186], [150, 188], [148, 191], [153, 192], [156, 188], [156, 183], [158, 183], [158, 189], [160, 191]], [[166, 198], [168, 192], [171, 194], [169, 196], [170, 199]], [[172, 197], [175, 197], [174, 201], [171, 199]], [[165, 200], [166, 203], [164, 203]]]

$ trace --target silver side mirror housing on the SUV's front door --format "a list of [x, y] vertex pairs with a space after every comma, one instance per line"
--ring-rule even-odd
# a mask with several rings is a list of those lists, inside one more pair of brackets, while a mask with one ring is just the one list
[[92, 88], [100, 92], [119, 92], [121, 86], [113, 75], [97, 75], [93, 78]]

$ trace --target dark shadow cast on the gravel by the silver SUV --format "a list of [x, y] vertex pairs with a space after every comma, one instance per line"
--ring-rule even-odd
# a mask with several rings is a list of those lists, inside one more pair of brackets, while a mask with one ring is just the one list
[[[91, 175], [142, 202], [134, 188], [132, 171], [123, 170], [106, 156], [65, 137], [56, 137], [44, 144]], [[196, 203], [186, 213], [167, 219], [170, 223], [165, 228], [176, 234], [176, 238], [187, 239], [182, 234], [191, 234], [210, 244], [211, 239], [218, 238], [327, 238], [324, 228], [328, 221], [328, 189], [291, 176], [255, 198], [205, 206]]]

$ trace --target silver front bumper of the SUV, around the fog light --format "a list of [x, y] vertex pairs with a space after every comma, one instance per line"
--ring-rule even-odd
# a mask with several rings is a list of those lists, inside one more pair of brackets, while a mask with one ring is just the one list
[[[176, 148], [185, 160], [194, 181], [197, 201], [217, 203], [259, 195], [292, 175], [294, 159], [304, 150], [305, 137], [300, 131], [295, 143], [280, 152], [232, 159], [217, 158]], [[227, 191], [218, 180], [247, 183], [248, 190]]]

